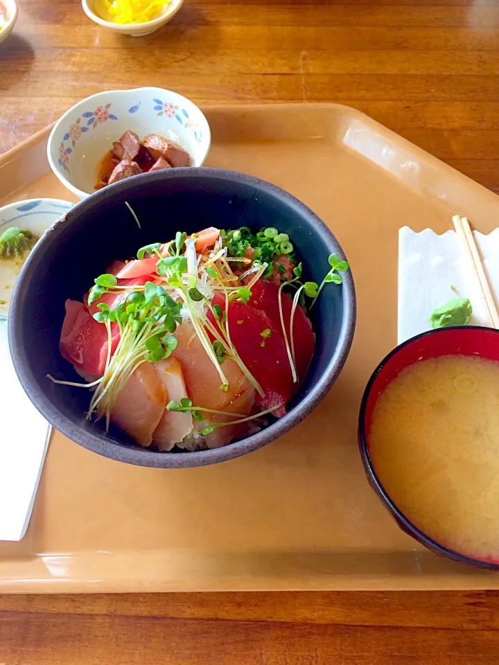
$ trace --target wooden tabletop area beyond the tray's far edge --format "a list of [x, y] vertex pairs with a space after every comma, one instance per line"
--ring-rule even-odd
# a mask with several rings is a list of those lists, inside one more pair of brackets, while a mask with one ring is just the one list
[[159, 33], [20, 0], [0, 46], [0, 152], [82, 97], [158, 85], [200, 104], [336, 101], [499, 189], [498, 0], [186, 0]]

